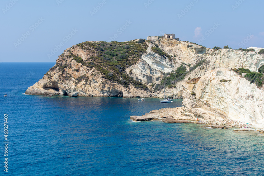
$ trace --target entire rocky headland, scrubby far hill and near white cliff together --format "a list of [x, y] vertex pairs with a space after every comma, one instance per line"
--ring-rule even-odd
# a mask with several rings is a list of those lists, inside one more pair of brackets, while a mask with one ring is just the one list
[[[166, 38], [86, 41], [64, 50], [26, 94], [161, 98], [166, 85], [166, 97], [183, 99], [183, 107], [154, 110], [143, 119], [184, 123], [198, 118], [208, 127], [249, 123], [263, 128], [264, 88], [258, 70], [264, 56], [258, 54], [261, 48], [255, 49], [210, 49]], [[135, 117], [131, 119], [142, 120]]]

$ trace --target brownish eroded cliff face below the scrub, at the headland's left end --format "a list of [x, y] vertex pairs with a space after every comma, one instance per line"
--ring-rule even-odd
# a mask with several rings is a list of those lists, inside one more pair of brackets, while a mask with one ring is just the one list
[[[57, 60], [58, 62], [58, 60]], [[26, 94], [32, 95], [69, 95], [72, 92], [78, 92], [78, 96], [89, 97], [150, 97], [149, 91], [136, 89], [132, 85], [129, 88], [102, 77], [102, 74], [96, 69], [84, 68], [81, 64], [74, 63], [73, 60], [64, 60], [72, 62], [72, 68], [67, 68], [65, 72], [71, 75], [61, 74], [58, 69], [49, 71], [39, 82], [26, 90]], [[75, 69], [79, 70], [78, 72]], [[78, 81], [79, 77], [85, 75], [86, 79]]]

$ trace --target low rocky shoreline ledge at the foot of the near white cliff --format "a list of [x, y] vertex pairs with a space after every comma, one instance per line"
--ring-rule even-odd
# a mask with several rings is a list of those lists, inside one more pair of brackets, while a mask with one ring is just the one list
[[184, 107], [153, 110], [143, 116], [130, 116], [130, 120], [136, 122], [160, 120], [165, 123], [196, 123], [209, 129], [234, 129], [234, 132], [258, 131], [261, 134], [264, 133], [263, 129], [254, 127], [254, 125], [252, 126], [252, 124], [247, 124], [244, 121], [233, 121], [227, 118], [205, 120], [204, 118], [191, 117], [191, 114], [185, 112]]

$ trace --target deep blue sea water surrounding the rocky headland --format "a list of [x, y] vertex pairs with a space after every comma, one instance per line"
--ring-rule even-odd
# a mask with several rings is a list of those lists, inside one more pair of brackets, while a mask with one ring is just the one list
[[[54, 65], [0, 63], [0, 175], [264, 174], [264, 137], [257, 132], [129, 120], [179, 107], [182, 100], [25, 95]], [[9, 142], [8, 173], [4, 141]]]

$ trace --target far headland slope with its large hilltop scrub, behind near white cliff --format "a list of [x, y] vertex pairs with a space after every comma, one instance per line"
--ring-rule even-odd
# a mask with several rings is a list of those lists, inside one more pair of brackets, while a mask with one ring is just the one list
[[[152, 51], [158, 47], [166, 56]], [[118, 55], [114, 55], [117, 53]], [[168, 56], [170, 58], [168, 58]], [[68, 48], [26, 94], [78, 96], [162, 97], [164, 75], [185, 68], [167, 96], [182, 98], [182, 84], [217, 68], [257, 71], [264, 58], [255, 52], [214, 50], [185, 41], [83, 42]], [[132, 83], [133, 82], [133, 83]]]

